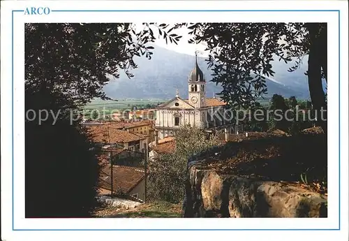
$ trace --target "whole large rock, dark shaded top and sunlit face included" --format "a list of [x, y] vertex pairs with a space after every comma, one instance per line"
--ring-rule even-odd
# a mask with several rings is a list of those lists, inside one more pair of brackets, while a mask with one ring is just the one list
[[297, 183], [304, 173], [327, 182], [326, 136], [237, 139], [188, 160], [184, 217], [327, 217], [325, 185], [316, 192]]

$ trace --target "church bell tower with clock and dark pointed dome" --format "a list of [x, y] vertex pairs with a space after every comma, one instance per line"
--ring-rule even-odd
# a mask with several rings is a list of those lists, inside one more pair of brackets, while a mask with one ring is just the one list
[[195, 108], [202, 108], [206, 105], [206, 81], [198, 65], [198, 55], [195, 52], [195, 66], [188, 78], [189, 103]]

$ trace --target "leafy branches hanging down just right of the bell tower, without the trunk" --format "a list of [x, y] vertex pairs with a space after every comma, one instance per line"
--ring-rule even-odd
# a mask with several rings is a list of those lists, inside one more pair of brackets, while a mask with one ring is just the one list
[[[247, 107], [267, 94], [265, 77], [274, 76], [274, 58], [288, 63], [306, 54], [303, 24], [190, 23], [189, 43], [207, 43], [208, 68], [213, 82], [222, 85], [223, 98], [235, 107]], [[297, 68], [297, 67], [295, 67]]]

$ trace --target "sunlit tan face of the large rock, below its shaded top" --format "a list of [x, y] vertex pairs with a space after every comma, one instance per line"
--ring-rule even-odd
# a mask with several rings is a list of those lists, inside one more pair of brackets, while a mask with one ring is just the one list
[[327, 198], [297, 184], [188, 167], [184, 217], [327, 217]]

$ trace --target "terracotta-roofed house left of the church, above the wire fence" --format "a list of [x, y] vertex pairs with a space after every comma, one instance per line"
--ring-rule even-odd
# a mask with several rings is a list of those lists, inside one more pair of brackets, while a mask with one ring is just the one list
[[110, 124], [87, 126], [87, 130], [91, 141], [100, 147], [114, 145], [133, 152], [147, 151], [148, 136], [144, 134], [116, 129]]

